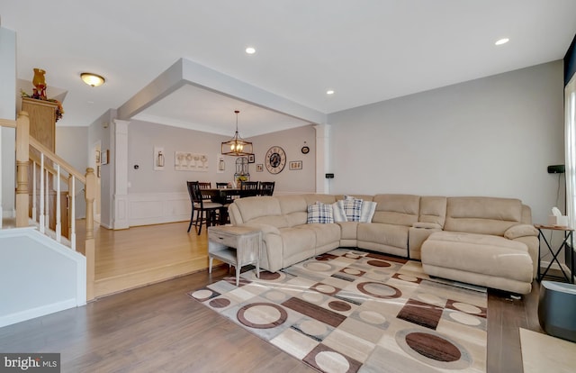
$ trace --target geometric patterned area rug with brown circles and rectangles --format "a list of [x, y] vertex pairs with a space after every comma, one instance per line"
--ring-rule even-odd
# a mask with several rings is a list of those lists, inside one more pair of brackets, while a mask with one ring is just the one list
[[322, 372], [486, 370], [486, 289], [417, 261], [340, 248], [188, 295]]

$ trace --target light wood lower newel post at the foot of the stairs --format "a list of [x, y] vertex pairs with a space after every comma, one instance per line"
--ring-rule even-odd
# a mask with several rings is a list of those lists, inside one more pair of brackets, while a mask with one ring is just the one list
[[94, 168], [86, 168], [86, 300], [94, 299], [94, 262], [95, 262], [95, 245], [94, 245], [94, 198], [96, 189], [96, 176]]

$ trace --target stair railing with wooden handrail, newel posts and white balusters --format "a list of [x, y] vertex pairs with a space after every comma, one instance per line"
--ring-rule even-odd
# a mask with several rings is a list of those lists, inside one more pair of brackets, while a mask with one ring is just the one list
[[[61, 159], [53, 151], [33, 139], [30, 136], [30, 120], [26, 112], [20, 112], [16, 121], [0, 119], [0, 126], [16, 128], [16, 227], [28, 226], [31, 217], [39, 223], [40, 232], [82, 253], [86, 258], [86, 300], [94, 299], [94, 193], [96, 187], [94, 168], [86, 168], [85, 175], [83, 175], [66, 160]], [[0, 148], [0, 154], [1, 152]], [[2, 174], [1, 160], [0, 157], [0, 174]], [[29, 183], [30, 164], [31, 183]], [[40, 184], [37, 185], [37, 183]], [[76, 248], [77, 183], [83, 184], [85, 190], [85, 240], [82, 241], [84, 243], [82, 248]], [[69, 212], [66, 220], [62, 218], [62, 201], [60, 200], [61, 192], [65, 191], [67, 191], [66, 202], [67, 212]], [[55, 196], [54, 193], [56, 193]], [[30, 199], [32, 200], [31, 209]], [[49, 214], [51, 199], [55, 199], [55, 203], [52, 204], [52, 208], [55, 209], [55, 214], [52, 214], [54, 216], [52, 224], [50, 223], [52, 217]], [[1, 216], [2, 179], [0, 178]], [[62, 237], [65, 224], [69, 227], [67, 229], [68, 242], [65, 242]], [[1, 219], [0, 228], [2, 228]]]

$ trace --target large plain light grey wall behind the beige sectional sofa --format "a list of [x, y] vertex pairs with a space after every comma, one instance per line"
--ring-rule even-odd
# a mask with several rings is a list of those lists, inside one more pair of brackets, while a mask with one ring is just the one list
[[329, 123], [332, 193], [517, 197], [545, 223], [558, 189], [546, 167], [564, 163], [563, 62], [330, 114]]

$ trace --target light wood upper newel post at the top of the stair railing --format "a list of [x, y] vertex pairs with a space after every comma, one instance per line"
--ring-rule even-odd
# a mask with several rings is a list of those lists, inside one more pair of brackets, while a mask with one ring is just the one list
[[20, 112], [16, 120], [16, 227], [28, 224], [28, 163], [30, 146], [30, 118], [27, 112]]

